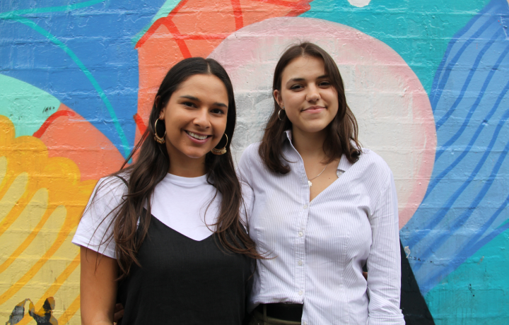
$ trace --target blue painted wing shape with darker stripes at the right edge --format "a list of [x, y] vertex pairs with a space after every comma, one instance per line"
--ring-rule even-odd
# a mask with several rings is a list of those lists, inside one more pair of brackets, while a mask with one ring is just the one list
[[507, 1], [491, 1], [452, 38], [435, 74], [435, 166], [400, 232], [423, 294], [509, 227], [508, 17]]

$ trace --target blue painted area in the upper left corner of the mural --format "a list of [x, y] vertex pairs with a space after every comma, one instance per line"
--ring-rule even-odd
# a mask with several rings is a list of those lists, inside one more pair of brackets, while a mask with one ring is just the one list
[[131, 38], [164, 2], [1, 1], [0, 17], [21, 11], [26, 24], [0, 19], [0, 73], [53, 95], [125, 155], [134, 143], [139, 81]]

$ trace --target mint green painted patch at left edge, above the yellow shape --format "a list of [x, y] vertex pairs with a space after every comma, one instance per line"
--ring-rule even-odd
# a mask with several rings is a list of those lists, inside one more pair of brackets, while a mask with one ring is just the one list
[[11, 119], [16, 136], [33, 135], [59, 106], [44, 90], [0, 74], [0, 114]]

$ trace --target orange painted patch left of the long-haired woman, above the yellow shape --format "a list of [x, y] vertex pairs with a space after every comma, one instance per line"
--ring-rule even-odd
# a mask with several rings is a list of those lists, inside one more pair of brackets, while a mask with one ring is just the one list
[[[119, 170], [124, 158], [110, 139], [86, 119], [61, 104], [43, 124], [40, 139], [47, 146], [49, 157], [73, 160], [81, 172], [81, 180], [100, 179]], [[35, 135], [34, 134], [34, 135]]]

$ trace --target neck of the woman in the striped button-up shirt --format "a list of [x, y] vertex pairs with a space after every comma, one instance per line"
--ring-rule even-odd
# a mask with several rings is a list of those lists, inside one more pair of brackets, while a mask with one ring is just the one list
[[320, 161], [327, 158], [323, 150], [323, 144], [327, 138], [327, 131], [303, 132], [292, 128], [292, 144], [303, 159], [318, 159]]

